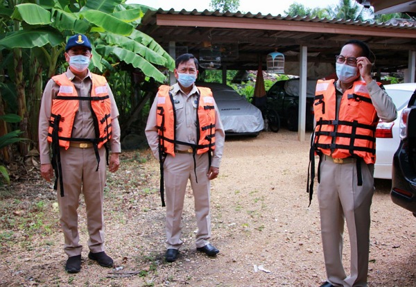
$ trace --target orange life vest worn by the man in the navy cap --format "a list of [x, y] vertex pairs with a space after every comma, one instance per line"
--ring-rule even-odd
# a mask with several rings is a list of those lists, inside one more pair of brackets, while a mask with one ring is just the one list
[[[65, 73], [53, 76], [60, 86], [58, 95], [52, 100], [49, 143], [59, 142], [59, 146], [69, 148], [70, 141], [89, 141], [101, 148], [111, 139], [111, 101], [107, 90], [107, 80], [92, 73], [91, 96], [78, 96], [75, 86]], [[79, 101], [90, 101], [96, 138], [75, 139], [71, 137], [73, 121], [78, 112]]]

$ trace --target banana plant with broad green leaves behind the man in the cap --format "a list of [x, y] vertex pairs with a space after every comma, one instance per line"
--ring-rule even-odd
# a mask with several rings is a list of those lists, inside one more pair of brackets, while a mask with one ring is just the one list
[[[173, 71], [175, 61], [155, 40], [135, 30], [147, 9], [139, 4], [128, 5], [125, 0], [0, 1], [0, 53], [14, 55], [6, 70], [13, 70], [10, 78], [15, 83], [19, 103], [16, 113], [22, 118], [21, 130], [25, 135], [37, 141], [33, 122], [37, 118], [36, 102], [42, 94], [36, 81], [42, 81], [44, 71], [47, 71], [44, 78], [49, 79], [62, 67], [66, 40], [76, 33], [83, 33], [91, 40], [90, 67], [103, 72], [106, 67], [103, 63], [125, 62], [157, 82], [166, 80], [159, 68]], [[36, 88], [26, 103], [24, 88], [29, 78], [35, 79], [31, 87]], [[30, 116], [28, 111], [32, 113]], [[21, 148], [21, 154], [25, 150], [28, 148]]]

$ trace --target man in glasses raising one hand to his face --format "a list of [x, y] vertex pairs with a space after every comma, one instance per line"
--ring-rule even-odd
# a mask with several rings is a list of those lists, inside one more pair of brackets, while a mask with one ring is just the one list
[[[316, 86], [311, 160], [314, 153], [320, 157], [318, 202], [327, 270], [323, 287], [367, 286], [376, 125], [379, 119], [397, 117], [390, 96], [372, 79], [369, 58], [367, 44], [350, 40], [336, 56], [338, 80], [318, 80]], [[345, 220], [351, 245], [348, 276], [343, 267]]]

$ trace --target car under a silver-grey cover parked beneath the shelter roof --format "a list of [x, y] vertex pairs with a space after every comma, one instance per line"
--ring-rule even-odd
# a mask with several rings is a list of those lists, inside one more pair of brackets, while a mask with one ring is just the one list
[[235, 89], [216, 82], [196, 82], [196, 87], [209, 87], [220, 110], [226, 135], [254, 135], [263, 130], [261, 111]]

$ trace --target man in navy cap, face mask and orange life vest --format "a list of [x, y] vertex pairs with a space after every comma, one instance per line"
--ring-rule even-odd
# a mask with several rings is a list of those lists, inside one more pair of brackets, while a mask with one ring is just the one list
[[88, 69], [91, 51], [85, 35], [69, 38], [64, 53], [69, 68], [46, 84], [40, 107], [40, 171], [48, 182], [55, 171], [54, 189], [58, 191], [64, 252], [68, 255], [65, 270], [70, 273], [81, 268], [80, 193], [87, 211], [88, 257], [104, 267], [114, 265], [104, 252], [103, 190], [106, 164], [110, 172], [119, 168], [119, 110], [105, 78]]

